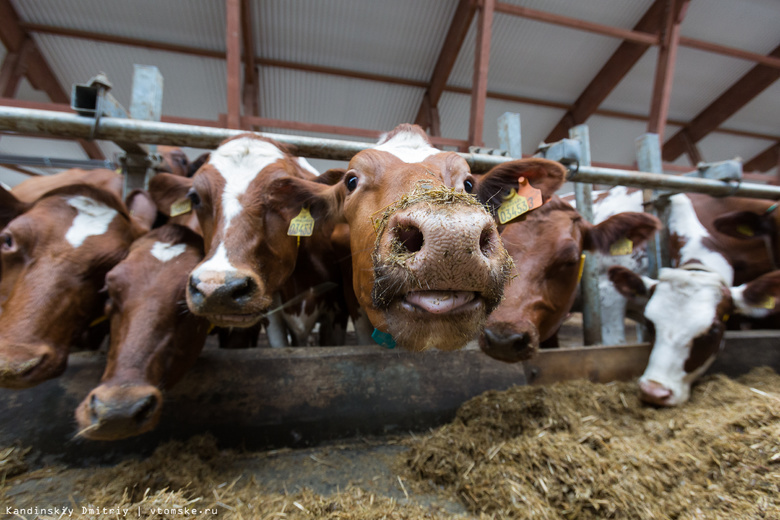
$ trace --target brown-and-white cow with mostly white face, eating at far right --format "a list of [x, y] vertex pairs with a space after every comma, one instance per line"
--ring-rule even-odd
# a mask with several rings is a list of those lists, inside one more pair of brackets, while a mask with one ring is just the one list
[[[641, 207], [641, 193], [614, 188], [597, 202], [601, 215], [608, 213], [603, 211], [608, 204], [622, 209]], [[654, 329], [650, 361], [639, 379], [642, 400], [661, 406], [685, 402], [692, 382], [709, 367], [722, 345], [725, 318], [773, 312], [769, 303], [774, 301], [777, 275], [772, 273], [771, 248], [760, 240], [748, 244], [724, 235], [714, 225], [718, 216], [731, 211], [752, 208], [762, 212], [771, 204], [673, 195], [669, 197], [671, 268], [662, 269], [658, 280], [626, 266], [607, 271], [615, 290], [642, 309]]]

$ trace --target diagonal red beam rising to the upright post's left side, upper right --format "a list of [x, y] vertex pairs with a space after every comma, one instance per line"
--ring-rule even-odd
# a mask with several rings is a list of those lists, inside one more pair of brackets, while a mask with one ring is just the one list
[[[665, 0], [655, 0], [642, 18], [634, 25], [636, 32], [660, 32]], [[545, 141], [552, 143], [569, 136], [569, 128], [584, 123], [595, 114], [601, 103], [618, 86], [633, 66], [650, 48], [648, 43], [624, 41], [596, 73], [574, 106], [566, 112]]]

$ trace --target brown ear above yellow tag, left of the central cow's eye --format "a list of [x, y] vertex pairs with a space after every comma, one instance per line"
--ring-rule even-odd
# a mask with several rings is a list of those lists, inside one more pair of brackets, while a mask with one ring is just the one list
[[290, 218], [306, 207], [315, 221], [336, 222], [341, 218], [344, 185], [282, 177], [268, 185], [266, 195], [274, 207]]

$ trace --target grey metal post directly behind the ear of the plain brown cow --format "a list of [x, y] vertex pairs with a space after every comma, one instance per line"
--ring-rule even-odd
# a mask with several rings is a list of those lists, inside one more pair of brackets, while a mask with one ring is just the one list
[[[580, 146], [582, 146], [580, 164], [590, 166], [590, 136], [587, 125], [577, 125], [570, 128], [569, 137], [580, 141]], [[591, 184], [578, 182], [574, 185], [577, 211], [588, 222], [593, 222], [592, 191]], [[599, 299], [598, 260], [591, 255], [585, 258], [580, 289], [582, 291], [583, 343], [596, 345], [601, 343], [601, 301]]]

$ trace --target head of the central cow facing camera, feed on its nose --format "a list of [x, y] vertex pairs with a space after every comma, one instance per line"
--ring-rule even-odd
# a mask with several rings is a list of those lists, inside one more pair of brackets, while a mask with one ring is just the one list
[[276, 188], [336, 204], [350, 228], [355, 293], [379, 332], [411, 350], [454, 350], [481, 332], [511, 271], [491, 211], [520, 177], [549, 200], [564, 173], [533, 159], [477, 180], [458, 154], [401, 125], [355, 155], [338, 185], [286, 179]]

